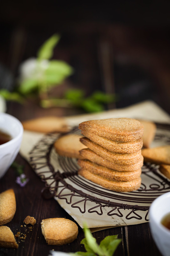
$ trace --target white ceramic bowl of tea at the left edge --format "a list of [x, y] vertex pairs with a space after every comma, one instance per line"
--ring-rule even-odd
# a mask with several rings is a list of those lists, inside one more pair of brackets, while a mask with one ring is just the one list
[[19, 152], [23, 126], [17, 118], [7, 113], [0, 113], [0, 131], [11, 136], [10, 141], [0, 145], [0, 178], [2, 178]]

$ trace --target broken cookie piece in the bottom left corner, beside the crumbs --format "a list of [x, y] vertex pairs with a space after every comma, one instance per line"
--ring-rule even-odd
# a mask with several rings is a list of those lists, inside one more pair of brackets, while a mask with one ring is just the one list
[[14, 234], [11, 229], [7, 226], [0, 227], [0, 247], [3, 248], [18, 248]]

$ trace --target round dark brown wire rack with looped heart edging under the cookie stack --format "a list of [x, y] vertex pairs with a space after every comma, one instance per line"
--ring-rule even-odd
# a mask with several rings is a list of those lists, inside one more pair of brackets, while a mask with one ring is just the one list
[[[170, 142], [170, 125], [156, 124], [155, 141]], [[80, 134], [78, 128], [71, 133]], [[60, 135], [61, 136], [61, 135]], [[57, 197], [65, 200], [72, 208], [78, 208], [81, 213], [95, 212], [102, 215], [107, 211], [108, 216], [125, 217], [126, 219], [148, 219], [150, 204], [159, 195], [170, 191], [170, 180], [159, 172], [159, 165], [144, 163], [142, 167], [142, 184], [132, 192], [115, 192], [101, 187], [78, 175], [78, 164], [74, 158], [56, 154], [60, 166], [55, 169], [51, 163], [53, 144], [58, 134], [45, 135], [30, 152], [30, 164], [35, 172], [45, 182], [42, 195], [45, 198]], [[121, 210], [124, 211], [124, 215]], [[144, 214], [141, 214], [141, 211]], [[126, 213], [125, 213], [126, 212]], [[144, 215], [144, 217], [142, 217]]]

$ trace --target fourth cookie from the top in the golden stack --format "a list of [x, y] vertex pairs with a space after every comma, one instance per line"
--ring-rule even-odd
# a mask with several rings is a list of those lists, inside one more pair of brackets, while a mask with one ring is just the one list
[[109, 169], [114, 169], [116, 171], [133, 171], [141, 168], [143, 166], [143, 161], [144, 158], [141, 156], [140, 160], [131, 165], [121, 165], [121, 164], [116, 164], [114, 161], [108, 161], [104, 158], [102, 158], [100, 155], [97, 155], [90, 149], [82, 149], [80, 150], [80, 155], [82, 156], [82, 159], [87, 159], [90, 160], [94, 163], [100, 164], [102, 166], [105, 166]]

